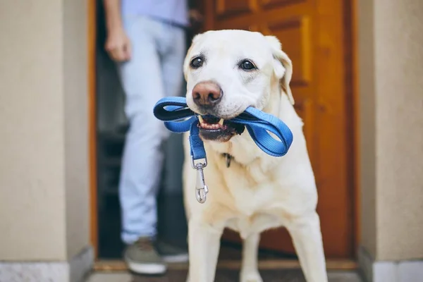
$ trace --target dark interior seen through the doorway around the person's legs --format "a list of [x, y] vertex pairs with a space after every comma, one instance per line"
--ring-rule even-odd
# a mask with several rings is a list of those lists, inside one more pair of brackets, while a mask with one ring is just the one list
[[[190, 4], [192, 5], [192, 4]], [[124, 94], [116, 66], [104, 51], [106, 28], [102, 1], [97, 1], [97, 214], [98, 258], [121, 259], [121, 209], [118, 180], [121, 157], [128, 130], [123, 112]], [[194, 30], [187, 32], [189, 46]], [[181, 89], [182, 95], [185, 85]], [[183, 164], [182, 136], [173, 134], [164, 144], [166, 161], [158, 195], [158, 236], [161, 240], [186, 247], [187, 223], [183, 209], [181, 170]]]

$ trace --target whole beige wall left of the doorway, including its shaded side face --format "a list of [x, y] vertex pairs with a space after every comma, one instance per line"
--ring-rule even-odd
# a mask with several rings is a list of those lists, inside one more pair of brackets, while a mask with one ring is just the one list
[[86, 6], [0, 1], [0, 261], [89, 243]]

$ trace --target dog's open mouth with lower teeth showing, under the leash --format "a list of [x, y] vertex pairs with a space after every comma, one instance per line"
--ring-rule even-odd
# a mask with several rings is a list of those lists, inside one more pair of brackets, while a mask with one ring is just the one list
[[203, 140], [228, 142], [244, 132], [245, 126], [216, 116], [198, 116], [200, 137]]

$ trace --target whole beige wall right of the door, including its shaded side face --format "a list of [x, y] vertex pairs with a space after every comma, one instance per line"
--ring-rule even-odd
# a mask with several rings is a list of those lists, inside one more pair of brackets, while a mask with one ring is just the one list
[[362, 245], [423, 259], [423, 1], [358, 3]]

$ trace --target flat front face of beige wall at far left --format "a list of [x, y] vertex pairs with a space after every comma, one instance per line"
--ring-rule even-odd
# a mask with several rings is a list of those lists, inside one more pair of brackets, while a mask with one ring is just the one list
[[1, 260], [66, 256], [62, 6], [40, 2], [0, 1]]

